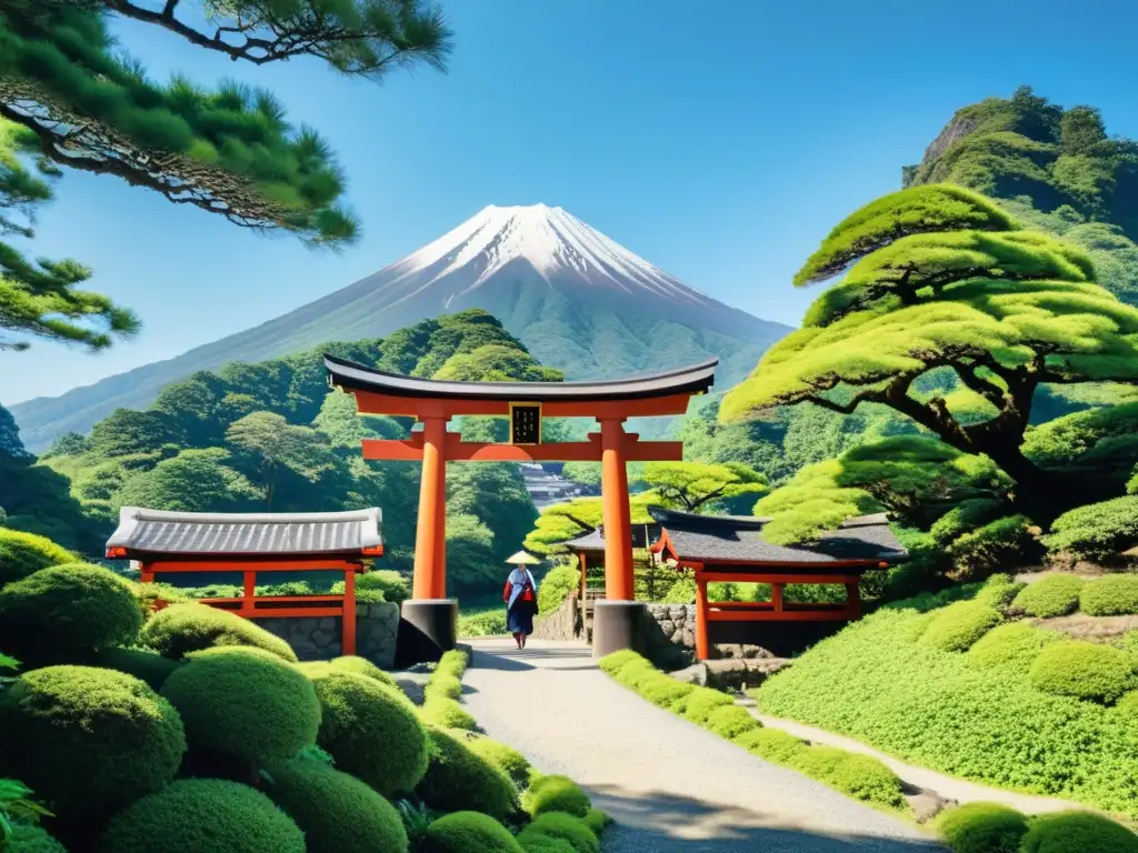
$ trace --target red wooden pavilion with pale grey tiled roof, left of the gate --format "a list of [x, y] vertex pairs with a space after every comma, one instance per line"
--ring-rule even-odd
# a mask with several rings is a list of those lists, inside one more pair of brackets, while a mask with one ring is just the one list
[[[201, 604], [246, 619], [339, 616], [343, 654], [355, 654], [355, 575], [384, 554], [378, 508], [339, 513], [179, 513], [124, 506], [107, 540], [107, 558], [139, 563], [140, 580], [208, 572], [242, 578], [239, 598]], [[335, 571], [343, 595], [257, 596], [257, 572]], [[157, 607], [165, 604], [156, 602]]]

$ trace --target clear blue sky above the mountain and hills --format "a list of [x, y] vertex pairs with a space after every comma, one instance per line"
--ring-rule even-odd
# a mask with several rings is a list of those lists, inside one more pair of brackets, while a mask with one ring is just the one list
[[154, 76], [274, 89], [348, 174], [363, 240], [313, 252], [117, 179], [68, 174], [36, 254], [75, 257], [142, 334], [105, 354], [36, 342], [0, 401], [170, 358], [345, 287], [488, 204], [560, 205], [686, 283], [794, 324], [790, 278], [846, 214], [897, 189], [953, 111], [1021, 83], [1138, 136], [1138, 10], [1106, 0], [450, 0], [450, 74], [352, 81], [251, 68], [117, 26]]

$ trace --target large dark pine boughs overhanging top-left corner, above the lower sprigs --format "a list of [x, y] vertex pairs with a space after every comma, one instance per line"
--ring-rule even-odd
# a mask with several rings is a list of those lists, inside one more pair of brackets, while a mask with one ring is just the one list
[[236, 83], [206, 91], [182, 76], [149, 80], [115, 49], [107, 13], [234, 60], [308, 55], [364, 76], [419, 63], [442, 67], [450, 50], [440, 14], [419, 0], [171, 0], [159, 9], [129, 0], [5, 3], [0, 116], [34, 133], [46, 158], [319, 246], [357, 233], [323, 140], [290, 125], [270, 92]]

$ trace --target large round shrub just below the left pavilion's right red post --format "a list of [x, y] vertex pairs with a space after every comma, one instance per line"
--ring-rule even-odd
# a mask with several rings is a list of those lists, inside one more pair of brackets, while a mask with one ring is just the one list
[[329, 668], [312, 679], [322, 719], [316, 743], [336, 767], [384, 796], [414, 789], [427, 771], [427, 731], [397, 690]]

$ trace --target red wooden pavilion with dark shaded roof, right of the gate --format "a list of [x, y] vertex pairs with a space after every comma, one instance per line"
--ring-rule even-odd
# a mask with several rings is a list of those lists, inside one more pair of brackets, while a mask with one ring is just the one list
[[[769, 519], [695, 515], [658, 506], [649, 507], [649, 513], [661, 525], [652, 550], [695, 573], [695, 656], [701, 661], [708, 659], [715, 643], [777, 646], [778, 636], [761, 630], [772, 623], [783, 633], [793, 627], [808, 641], [820, 639], [833, 623], [860, 615], [858, 585], [864, 572], [908, 558], [884, 513], [849, 519], [809, 545], [791, 546], [772, 545], [762, 538]], [[716, 582], [769, 583], [770, 599], [709, 601], [708, 583]], [[846, 601], [787, 602], [783, 595], [787, 583], [842, 585]]]

